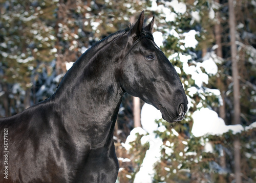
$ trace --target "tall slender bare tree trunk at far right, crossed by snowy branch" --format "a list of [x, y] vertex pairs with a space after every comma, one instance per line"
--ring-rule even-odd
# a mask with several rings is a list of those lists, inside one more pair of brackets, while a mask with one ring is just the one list
[[[240, 124], [240, 91], [239, 91], [239, 72], [237, 61], [237, 46], [236, 46], [236, 20], [234, 15], [233, 0], [228, 0], [229, 10], [229, 30], [230, 30], [230, 44], [231, 44], [231, 59], [232, 59], [232, 77], [233, 77], [233, 104], [234, 115], [233, 124]], [[234, 173], [236, 176], [236, 183], [241, 183], [241, 152], [240, 140], [234, 140]]]

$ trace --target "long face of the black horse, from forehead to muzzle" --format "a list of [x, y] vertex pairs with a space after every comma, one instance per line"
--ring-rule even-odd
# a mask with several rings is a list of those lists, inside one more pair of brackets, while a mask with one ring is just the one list
[[[145, 29], [152, 32], [154, 20], [151, 24]], [[175, 68], [145, 34], [135, 39], [123, 62], [121, 87], [159, 109], [168, 122], [182, 120], [187, 111], [187, 97]]]

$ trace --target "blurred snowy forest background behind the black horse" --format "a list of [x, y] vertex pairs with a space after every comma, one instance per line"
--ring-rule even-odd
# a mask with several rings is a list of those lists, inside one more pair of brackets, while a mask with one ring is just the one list
[[[239, 124], [250, 126], [256, 121], [256, 1], [233, 1], [233, 7], [238, 118]], [[226, 125], [237, 124], [228, 0], [0, 0], [0, 117], [51, 96], [84, 51], [125, 29], [142, 10], [147, 23], [156, 18], [161, 49], [180, 75], [190, 107], [179, 123], [156, 121], [154, 136], [161, 144], [152, 182], [241, 182], [237, 176], [242, 182], [256, 182], [255, 127], [219, 135], [191, 133], [193, 114], [201, 109], [215, 111]], [[152, 147], [150, 140], [142, 142], [147, 132], [135, 133], [130, 148], [124, 146], [131, 130], [140, 126], [134, 123], [133, 101], [124, 96], [116, 124], [117, 182], [139, 182], [136, 173]], [[139, 103], [141, 109], [143, 101]]]

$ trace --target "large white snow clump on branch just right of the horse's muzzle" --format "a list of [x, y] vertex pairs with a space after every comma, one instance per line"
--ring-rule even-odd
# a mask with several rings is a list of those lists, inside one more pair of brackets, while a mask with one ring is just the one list
[[201, 108], [192, 115], [194, 124], [191, 129], [191, 134], [195, 137], [201, 137], [205, 135], [222, 135], [229, 130], [232, 134], [241, 133], [243, 130], [249, 129], [256, 124], [252, 123], [251, 126], [244, 128], [241, 124], [226, 125], [224, 120], [218, 116], [215, 111], [208, 108]]

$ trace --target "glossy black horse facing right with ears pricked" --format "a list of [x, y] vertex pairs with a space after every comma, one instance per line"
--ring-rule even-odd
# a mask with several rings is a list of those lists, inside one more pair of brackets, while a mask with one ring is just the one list
[[1, 182], [115, 182], [113, 132], [125, 92], [168, 122], [183, 119], [179, 76], [154, 43], [154, 17], [144, 28], [143, 21], [144, 12], [87, 50], [50, 98], [0, 119]]

